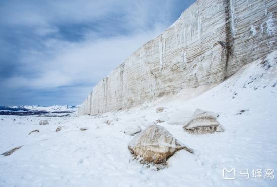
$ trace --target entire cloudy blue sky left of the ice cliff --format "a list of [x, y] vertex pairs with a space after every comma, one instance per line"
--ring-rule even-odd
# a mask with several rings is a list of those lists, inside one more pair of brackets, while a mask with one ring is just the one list
[[194, 0], [0, 2], [0, 105], [78, 105]]

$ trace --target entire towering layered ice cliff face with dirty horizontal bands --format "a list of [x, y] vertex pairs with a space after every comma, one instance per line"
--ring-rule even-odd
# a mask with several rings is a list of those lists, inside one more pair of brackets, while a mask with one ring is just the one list
[[100, 81], [78, 114], [212, 86], [277, 49], [276, 0], [198, 0]]

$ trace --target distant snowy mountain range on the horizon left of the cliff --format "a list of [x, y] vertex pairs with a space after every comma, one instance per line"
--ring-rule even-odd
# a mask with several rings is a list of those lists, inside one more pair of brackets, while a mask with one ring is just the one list
[[37, 115], [37, 116], [69, 116], [77, 111], [79, 106], [68, 105], [24, 105], [24, 106], [2, 106], [0, 105], [0, 115]]

